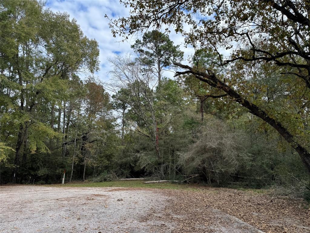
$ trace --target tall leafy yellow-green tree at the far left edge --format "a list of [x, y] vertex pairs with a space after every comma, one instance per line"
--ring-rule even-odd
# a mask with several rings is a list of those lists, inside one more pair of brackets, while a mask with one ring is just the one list
[[36, 1], [1, 2], [1, 94], [7, 114], [13, 113], [9, 122], [18, 119], [19, 125], [12, 180], [27, 149], [48, 151], [46, 137], [57, 135], [38, 112], [46, 112], [43, 108], [72, 75], [98, 70], [98, 43], [84, 36], [68, 14], [43, 7]]

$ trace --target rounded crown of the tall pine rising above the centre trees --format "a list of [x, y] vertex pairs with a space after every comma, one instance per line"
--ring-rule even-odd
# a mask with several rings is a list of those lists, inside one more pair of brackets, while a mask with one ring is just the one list
[[183, 58], [179, 45], [173, 45], [167, 35], [157, 30], [144, 33], [142, 41], [137, 39], [131, 48], [143, 64], [156, 72], [158, 85], [161, 84], [162, 70]]

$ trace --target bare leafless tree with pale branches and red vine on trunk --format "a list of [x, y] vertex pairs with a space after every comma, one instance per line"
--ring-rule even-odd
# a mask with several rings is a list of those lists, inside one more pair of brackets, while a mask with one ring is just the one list
[[[155, 115], [154, 91], [156, 81], [153, 73], [143, 69], [143, 64], [139, 60], [132, 60], [130, 56], [115, 56], [109, 59], [113, 65], [111, 90], [117, 93], [120, 89], [126, 89], [128, 105], [134, 114], [135, 132], [148, 137], [155, 148], [157, 158], [160, 159], [158, 147], [158, 127]], [[142, 130], [142, 126], [146, 130]]]

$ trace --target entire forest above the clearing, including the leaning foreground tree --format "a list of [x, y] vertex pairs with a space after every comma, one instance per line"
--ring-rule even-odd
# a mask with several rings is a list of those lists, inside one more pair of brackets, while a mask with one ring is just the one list
[[285, 2], [121, 1], [112, 34], [141, 36], [102, 81], [68, 13], [1, 1], [1, 184], [197, 175], [310, 199], [310, 3]]

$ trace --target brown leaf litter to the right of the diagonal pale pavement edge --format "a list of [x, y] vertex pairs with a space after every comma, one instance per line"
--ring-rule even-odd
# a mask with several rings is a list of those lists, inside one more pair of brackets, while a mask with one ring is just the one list
[[230, 189], [216, 190], [219, 193], [207, 191], [207, 195], [199, 200], [265, 232], [310, 232], [310, 210], [300, 199], [274, 198]]

